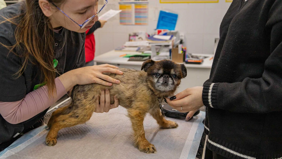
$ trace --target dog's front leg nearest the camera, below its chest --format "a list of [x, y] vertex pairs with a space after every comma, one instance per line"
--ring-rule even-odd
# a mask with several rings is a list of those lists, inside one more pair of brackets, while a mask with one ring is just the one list
[[134, 131], [135, 146], [141, 152], [156, 153], [157, 150], [155, 146], [149, 143], [149, 141], [145, 138], [143, 121], [146, 111], [136, 109], [128, 109], [127, 111]]

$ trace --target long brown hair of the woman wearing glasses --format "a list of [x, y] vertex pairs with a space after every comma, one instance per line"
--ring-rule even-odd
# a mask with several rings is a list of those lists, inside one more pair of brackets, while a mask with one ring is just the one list
[[[52, 0], [52, 2], [61, 4], [63, 0]], [[22, 2], [23, 13], [12, 18], [5, 18], [5, 21], [16, 25], [15, 38], [16, 44], [3, 46], [20, 57], [24, 57], [22, 66], [16, 73], [21, 76], [27, 67], [28, 62], [37, 64], [41, 70], [41, 82], [46, 82], [49, 88], [49, 95], [53, 96], [56, 91], [53, 59], [54, 56], [54, 31], [48, 17], [46, 17], [39, 7], [38, 0], [26, 0]], [[23, 54], [19, 55], [14, 49], [21, 50]], [[36, 60], [32, 61], [32, 58]]]

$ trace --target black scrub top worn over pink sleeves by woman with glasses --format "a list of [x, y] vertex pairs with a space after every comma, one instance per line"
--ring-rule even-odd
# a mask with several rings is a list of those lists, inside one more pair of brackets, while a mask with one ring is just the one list
[[[25, 1], [9, 5], [0, 10], [0, 15], [6, 18], [17, 16], [25, 9]], [[0, 16], [0, 22], [4, 19]], [[12, 46], [16, 43], [16, 25], [9, 22], [0, 24], [0, 42]], [[54, 55], [58, 60], [56, 67], [60, 74], [80, 68], [85, 65], [85, 33], [77, 33], [62, 28], [59, 33], [54, 33]], [[40, 42], [40, 41], [38, 41]], [[21, 50], [13, 50], [21, 55]], [[19, 78], [14, 74], [21, 68], [24, 57], [19, 57], [0, 44], [0, 101], [15, 102], [23, 99], [26, 94], [33, 91], [35, 85], [42, 83], [40, 68], [36, 64], [28, 62], [27, 68]], [[58, 74], [56, 75], [59, 76]], [[1, 109], [1, 108], [0, 108]], [[39, 113], [37, 117], [23, 123], [10, 124], [0, 115], [0, 143], [8, 141], [15, 134], [20, 133], [27, 126], [36, 123], [44, 116], [47, 109]], [[38, 119], [39, 118], [39, 119]]]

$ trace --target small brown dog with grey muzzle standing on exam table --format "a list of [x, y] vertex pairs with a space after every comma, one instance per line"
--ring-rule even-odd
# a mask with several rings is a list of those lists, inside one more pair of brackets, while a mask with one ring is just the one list
[[160, 111], [160, 101], [172, 96], [180, 84], [180, 79], [186, 77], [187, 70], [183, 64], [170, 60], [143, 63], [141, 70], [121, 68], [123, 75], [105, 73], [120, 80], [120, 84], [104, 86], [100, 84], [76, 85], [72, 90], [72, 103], [59, 108], [52, 113], [48, 126], [50, 131], [46, 136], [48, 146], [57, 143], [58, 131], [62, 128], [87, 122], [96, 109], [95, 101], [100, 98], [103, 89], [109, 89], [111, 104], [117, 95], [119, 104], [127, 109], [131, 119], [135, 137], [135, 146], [142, 152], [155, 153], [156, 148], [145, 138], [143, 121], [146, 113], [150, 113], [161, 128], [177, 128], [178, 124], [166, 120]]

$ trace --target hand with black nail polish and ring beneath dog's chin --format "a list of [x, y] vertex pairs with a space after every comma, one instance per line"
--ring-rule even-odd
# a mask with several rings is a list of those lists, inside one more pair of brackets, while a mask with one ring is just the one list
[[188, 121], [191, 119], [191, 117], [193, 117], [194, 113], [204, 105], [202, 100], [202, 92], [203, 87], [188, 88], [176, 94], [176, 96], [166, 98], [166, 102], [173, 109], [176, 109], [182, 113], [189, 111], [188, 115], [186, 116], [186, 121]]

